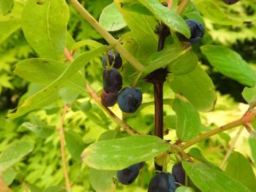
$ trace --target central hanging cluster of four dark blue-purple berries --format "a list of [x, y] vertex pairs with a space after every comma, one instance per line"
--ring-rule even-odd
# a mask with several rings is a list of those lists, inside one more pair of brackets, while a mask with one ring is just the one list
[[142, 92], [132, 87], [125, 87], [121, 90], [123, 79], [117, 70], [122, 66], [119, 53], [114, 52], [114, 50], [108, 51], [108, 58], [105, 55], [103, 56], [102, 66], [103, 92], [101, 93], [101, 102], [103, 105], [112, 107], [115, 103], [118, 103], [123, 112], [135, 112], [142, 104]]

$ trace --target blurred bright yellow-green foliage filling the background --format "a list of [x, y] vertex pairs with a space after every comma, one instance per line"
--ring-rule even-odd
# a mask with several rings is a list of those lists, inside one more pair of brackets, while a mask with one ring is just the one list
[[[71, 105], [71, 110], [68, 110], [65, 119], [65, 139], [67, 142], [67, 161], [68, 161], [68, 171], [72, 183], [73, 191], [106, 191], [117, 188], [117, 191], [146, 191], [148, 182], [153, 175], [153, 161], [147, 162], [146, 167], [143, 169], [142, 173], [139, 175], [139, 179], [129, 187], [121, 186], [117, 183], [115, 186], [114, 181], [110, 186], [111, 182], [106, 180], [99, 180], [96, 174], [96, 170], [92, 170], [85, 164], [82, 164], [80, 159], [80, 153], [86, 146], [90, 143], [97, 141], [99, 138], [105, 137], [105, 139], [114, 137], [126, 137], [125, 132], [114, 131], [117, 125], [111, 121], [111, 119], [106, 116], [106, 114], [101, 110], [101, 108], [96, 105], [91, 98], [86, 94], [78, 94], [81, 90], [74, 87], [65, 87], [60, 89], [59, 97], [51, 98], [53, 103], [51, 105], [40, 107], [40, 110], [29, 112], [23, 116], [18, 117], [14, 120], [6, 119], [6, 114], [8, 110], [13, 110], [19, 103], [22, 103], [24, 99], [28, 96], [33, 95], [36, 91], [48, 85], [49, 82], [44, 80], [40, 82], [40, 77], [38, 80], [30, 80], [29, 78], [20, 78], [16, 76], [13, 71], [15, 69], [15, 64], [27, 58], [36, 58], [40, 55], [35, 53], [35, 47], [32, 49], [30, 46], [31, 42], [27, 42], [27, 36], [31, 34], [26, 34], [21, 28], [21, 18], [26, 17], [26, 14], [22, 11], [25, 5], [24, 0], [15, 0], [13, 3], [13, 8], [11, 12], [5, 12], [2, 9], [0, 12], [0, 152], [6, 150], [17, 142], [29, 141], [31, 148], [23, 148], [20, 161], [16, 164], [11, 164], [6, 166], [6, 170], [1, 170], [3, 172], [3, 180], [10, 186], [13, 191], [61, 191], [64, 190], [65, 179], [62, 170], [62, 163], [60, 157], [60, 141], [58, 137], [58, 126], [60, 123], [60, 116], [62, 114], [62, 105], [68, 103]], [[176, 2], [176, 1], [174, 1]], [[241, 117], [247, 109], [246, 101], [241, 96], [245, 85], [251, 86], [252, 83], [246, 79], [243, 80], [236, 79], [235, 73], [220, 73], [218, 71], [218, 63], [210, 64], [210, 55], [205, 54], [207, 52], [208, 46], [203, 46], [207, 44], [224, 45], [230, 48], [239, 55], [253, 68], [256, 70], [256, 3], [253, 1], [241, 1], [234, 6], [226, 6], [221, 1], [194, 1], [200, 13], [204, 16], [204, 24], [206, 28], [206, 35], [200, 44], [193, 46], [193, 51], [198, 55], [199, 61], [203, 69], [207, 71], [209, 76], [214, 82], [215, 89], [217, 91], [218, 100], [216, 101], [216, 107], [213, 112], [200, 113], [200, 119], [198, 122], [203, 124], [198, 130], [198, 132], [205, 132], [219, 125], [223, 125], [234, 119]], [[105, 6], [108, 6], [112, 1], [110, 0], [95, 0], [95, 1], [80, 1], [80, 3], [87, 8], [87, 10], [94, 16], [94, 18], [99, 19], [102, 10]], [[173, 4], [176, 6], [176, 3]], [[207, 9], [207, 7], [211, 8]], [[2, 5], [0, 4], [0, 8]], [[78, 12], [69, 6], [69, 21], [68, 21], [68, 35], [67, 35], [67, 48], [71, 49], [74, 42], [79, 42], [80, 40], [96, 40], [102, 44], [106, 44], [105, 40], [97, 33], [92, 26], [90, 26], [87, 21], [85, 21]], [[221, 12], [220, 12], [221, 11]], [[218, 12], [218, 13], [217, 13]], [[184, 13], [190, 15], [191, 17], [198, 17], [196, 12]], [[217, 14], [217, 15], [216, 15]], [[223, 15], [222, 15], [223, 14]], [[225, 15], [228, 15], [227, 19]], [[222, 17], [225, 17], [223, 19]], [[60, 18], [61, 19], [61, 18]], [[68, 19], [68, 18], [62, 18]], [[199, 17], [201, 19], [201, 17]], [[101, 20], [101, 19], [100, 19]], [[250, 24], [241, 24], [241, 21], [251, 20]], [[55, 22], [55, 21], [53, 21]], [[104, 23], [104, 21], [102, 21]], [[32, 21], [33, 23], [33, 21]], [[153, 21], [152, 26], [155, 26], [156, 21]], [[28, 24], [28, 27], [31, 27]], [[108, 24], [108, 26], [110, 26]], [[58, 26], [56, 26], [58, 27]], [[128, 28], [123, 26], [117, 26], [120, 30], [112, 32], [114, 37], [121, 37], [122, 41], [126, 46], [130, 37], [133, 34], [133, 30], [137, 30], [138, 26], [135, 28]], [[24, 29], [24, 27], [23, 27]], [[128, 33], [128, 31], [131, 32]], [[35, 28], [35, 33], [38, 33]], [[33, 35], [33, 34], [32, 34]], [[60, 34], [58, 34], [60, 35]], [[143, 38], [137, 35], [139, 40], [145, 41], [147, 38]], [[148, 49], [156, 50], [152, 48], [152, 42], [143, 42], [148, 44]], [[83, 53], [84, 51], [92, 50], [96, 45], [95, 42], [89, 41], [85, 43], [86, 46], [79, 47], [78, 53]], [[40, 49], [40, 44], [39, 48]], [[64, 47], [65, 45], [63, 45]], [[77, 45], [78, 46], [78, 45]], [[133, 46], [133, 45], [131, 45]], [[201, 48], [200, 48], [201, 46]], [[203, 49], [202, 49], [203, 46]], [[58, 48], [60, 49], [60, 47]], [[60, 49], [61, 50], [61, 49]], [[59, 53], [57, 49], [53, 49], [56, 53], [53, 54], [53, 58], [58, 56], [58, 59], [63, 59], [62, 53]], [[40, 52], [40, 51], [39, 51]], [[145, 51], [146, 52], [146, 51]], [[203, 54], [203, 53], [204, 54]], [[139, 55], [139, 50], [134, 50], [134, 53]], [[148, 51], [151, 54], [152, 51]], [[42, 53], [43, 54], [43, 53]], [[205, 56], [207, 55], [207, 56]], [[228, 53], [227, 53], [228, 55]], [[147, 58], [148, 55], [144, 55]], [[50, 56], [51, 58], [51, 56]], [[230, 58], [232, 59], [232, 58]], [[42, 61], [43, 62], [43, 61]], [[214, 66], [214, 67], [212, 67]], [[16, 71], [21, 70], [24, 76], [28, 76], [26, 73], [26, 68], [15, 69]], [[39, 69], [38, 69], [39, 70]], [[57, 69], [55, 69], [57, 71]], [[61, 71], [62, 69], [60, 69]], [[131, 70], [129, 67], [123, 71], [123, 74], [128, 73]], [[240, 69], [237, 69], [239, 71]], [[87, 65], [85, 65], [83, 72], [88, 80], [89, 84], [96, 90], [101, 89], [101, 56], [94, 58]], [[223, 75], [224, 74], [224, 75]], [[49, 74], [49, 78], [51, 74]], [[253, 75], [252, 75], [253, 76]], [[36, 77], [33, 77], [36, 78]], [[76, 78], [79, 78], [76, 77]], [[126, 84], [133, 82], [134, 76], [125, 78]], [[255, 77], [252, 77], [252, 81], [255, 82]], [[139, 82], [142, 83], [142, 82]], [[68, 83], [67, 83], [68, 84]], [[83, 84], [82, 84], [83, 86]], [[138, 86], [144, 87], [144, 103], [153, 101], [153, 89], [149, 85]], [[173, 85], [175, 87], [175, 85]], [[171, 91], [169, 85], [164, 87], [164, 98], [174, 98], [174, 93]], [[32, 104], [33, 105], [33, 104]], [[173, 110], [176, 111], [176, 105], [191, 105], [187, 103], [182, 103], [176, 101], [173, 104]], [[121, 116], [121, 112], [114, 106], [112, 110], [118, 116]], [[164, 105], [164, 123], [166, 129], [169, 129], [169, 134], [165, 139], [176, 140], [176, 134], [173, 130], [172, 117], [175, 114], [171, 106]], [[190, 111], [189, 111], [190, 112]], [[193, 113], [193, 110], [191, 111]], [[197, 116], [198, 114], [194, 114]], [[142, 121], [143, 119], [143, 121]], [[153, 105], [145, 107], [144, 110], [138, 112], [136, 116], [128, 116], [126, 118], [128, 124], [135, 128], [138, 132], [148, 133], [153, 130]], [[109, 135], [102, 135], [103, 132], [112, 130]], [[207, 161], [211, 162], [216, 166], [221, 166], [223, 157], [228, 150], [230, 145], [230, 140], [237, 133], [237, 130], [230, 130], [225, 133], [218, 134], [211, 139], [207, 139], [198, 143], [196, 146], [200, 149]], [[116, 136], [116, 134], [119, 134]], [[178, 133], [182, 135], [182, 132]], [[115, 135], [115, 136], [113, 136]], [[191, 136], [193, 138], [194, 136]], [[255, 189], [255, 165], [253, 165], [253, 157], [250, 155], [250, 148], [248, 146], [248, 132], [245, 130], [241, 133], [241, 137], [237, 141], [233, 152], [228, 160], [228, 164], [223, 167], [223, 170], [228, 173], [234, 180], [238, 180], [243, 183], [248, 189]], [[190, 137], [189, 137], [190, 138]], [[188, 140], [189, 138], [182, 138]], [[103, 140], [105, 140], [103, 139]], [[250, 143], [255, 142], [253, 139]], [[17, 143], [20, 146], [21, 143]], [[15, 146], [12, 146], [15, 147]], [[243, 155], [241, 155], [241, 152]], [[28, 155], [27, 155], [28, 154]], [[26, 156], [25, 156], [26, 155]], [[24, 157], [25, 156], [25, 157]], [[171, 157], [170, 167], [174, 163], [174, 157]], [[232, 168], [232, 164], [239, 168], [239, 164], [248, 165], [248, 169], [245, 171], [244, 166], [241, 168], [241, 175], [236, 175]], [[253, 169], [251, 166], [253, 165]], [[185, 171], [191, 171], [191, 167], [185, 164]], [[196, 164], [194, 166], [202, 167], [202, 164]], [[0, 158], [1, 167], [1, 158]], [[4, 166], [3, 166], [4, 167]], [[202, 167], [203, 170], [205, 167]], [[207, 168], [205, 168], [207, 169]], [[238, 171], [237, 171], [238, 172]], [[219, 172], [218, 172], [219, 173]], [[253, 175], [250, 181], [244, 180], [244, 178], [249, 178], [249, 174]], [[102, 173], [101, 173], [102, 174]], [[115, 172], [106, 173], [106, 175], [115, 175]], [[219, 173], [222, 174], [222, 173]], [[196, 173], [194, 173], [196, 177]], [[199, 175], [199, 173], [198, 173]], [[196, 180], [196, 178], [192, 180]], [[100, 178], [101, 179], [101, 178]], [[95, 180], [99, 180], [95, 184]], [[105, 182], [105, 183], [104, 183]], [[102, 183], [99, 186], [99, 183]], [[202, 181], [203, 183], [203, 181]], [[106, 189], [99, 189], [105, 186]], [[204, 186], [202, 186], [204, 187]]]

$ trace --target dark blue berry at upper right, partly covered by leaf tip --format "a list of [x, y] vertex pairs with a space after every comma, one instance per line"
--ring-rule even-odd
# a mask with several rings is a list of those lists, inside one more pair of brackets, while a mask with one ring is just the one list
[[205, 35], [205, 28], [203, 27], [203, 25], [194, 19], [187, 19], [185, 21], [189, 26], [191, 37], [187, 39], [187, 37], [185, 37], [184, 35], [178, 34], [178, 37], [180, 37], [180, 40], [184, 42], [191, 42], [191, 44], [196, 44], [200, 42], [203, 35]]

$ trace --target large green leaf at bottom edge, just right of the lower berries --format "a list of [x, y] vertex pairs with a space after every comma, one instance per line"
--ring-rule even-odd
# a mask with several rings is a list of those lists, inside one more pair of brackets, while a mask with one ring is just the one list
[[233, 191], [248, 192], [249, 189], [226, 175], [223, 171], [212, 168], [205, 163], [182, 162], [182, 166], [189, 178], [201, 191]]

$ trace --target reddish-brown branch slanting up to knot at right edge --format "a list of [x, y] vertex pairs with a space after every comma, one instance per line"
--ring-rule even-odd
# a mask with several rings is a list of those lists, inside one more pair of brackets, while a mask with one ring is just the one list
[[248, 122], [252, 122], [255, 120], [256, 120], [255, 112], [248, 112], [241, 119], [222, 125], [221, 127], [210, 130], [209, 132], [205, 132], [204, 134], [201, 134], [200, 136], [194, 139], [191, 139], [180, 146], [184, 150], [186, 148], [189, 148], [190, 146], [193, 146], [195, 143], [198, 143], [200, 141], [203, 141], [204, 139], [212, 137], [214, 134], [219, 134], [220, 132], [223, 132], [225, 130], [230, 130], [240, 125], [247, 125]]

